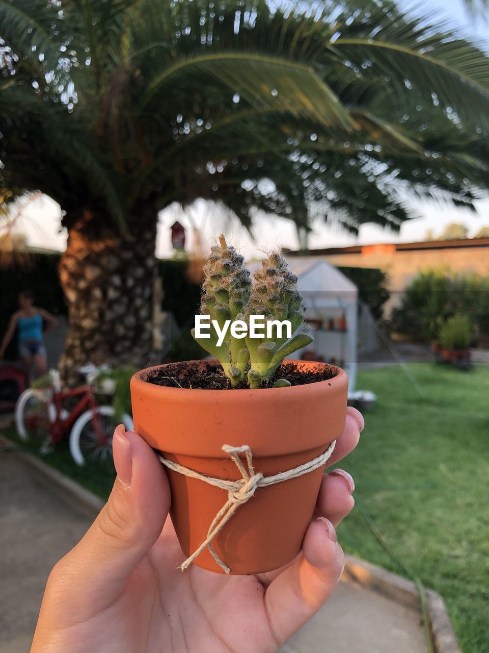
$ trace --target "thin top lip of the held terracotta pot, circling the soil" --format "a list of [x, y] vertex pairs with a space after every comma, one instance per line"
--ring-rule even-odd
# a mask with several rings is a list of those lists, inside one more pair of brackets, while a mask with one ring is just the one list
[[[294, 362], [299, 364], [299, 366], [303, 368], [312, 368], [316, 366], [327, 366], [329, 368], [333, 368], [336, 370], [336, 374], [331, 377], [331, 379], [325, 379], [325, 381], [315, 381], [313, 383], [304, 383], [303, 385], [292, 385], [291, 387], [288, 388], [256, 388], [256, 389], [251, 389], [251, 388], [243, 388], [240, 390], [231, 390], [229, 388], [222, 389], [222, 390], [206, 390], [202, 388], [196, 388], [196, 389], [190, 389], [190, 388], [172, 388], [168, 387], [166, 385], [158, 385], [156, 383], [151, 383], [150, 381], [145, 381], [143, 379], [143, 375], [148, 374], [149, 372], [153, 372], [153, 370], [158, 370], [159, 368], [165, 367], [166, 365], [191, 365], [191, 364], [202, 364], [202, 362], [210, 362], [209, 359], [201, 359], [201, 360], [183, 360], [181, 362], [175, 362], [175, 363], [162, 363], [160, 365], [153, 365], [149, 368], [145, 368], [144, 370], [139, 370], [134, 374], [130, 380], [130, 386], [131, 388], [138, 388], [140, 389], [141, 394], [146, 394], [150, 396], [158, 396], [162, 393], [168, 395], [175, 396], [175, 398], [183, 399], [185, 396], [190, 397], [190, 395], [193, 398], [199, 398], [202, 399], [204, 397], [207, 397], [209, 401], [214, 400], [219, 400], [220, 402], [226, 401], [226, 400], [232, 400], [235, 402], [239, 396], [250, 396], [248, 393], [252, 393], [252, 395], [256, 398], [258, 398], [258, 395], [263, 395], [263, 392], [267, 392], [267, 396], [269, 396], [269, 400], [272, 402], [274, 398], [280, 397], [280, 399], [284, 398], [284, 390], [286, 392], [294, 392], [294, 394], [297, 395], [297, 393], [303, 393], [303, 392], [313, 392], [314, 390], [318, 392], [325, 392], [325, 390], [328, 390], [329, 392], [333, 392], [336, 390], [338, 387], [344, 385], [344, 383], [348, 383], [348, 376], [342, 368], [336, 366], [336, 365], [331, 365], [329, 363], [325, 362], [316, 362], [314, 360], [295, 360], [291, 358], [286, 358], [284, 362]], [[217, 363], [217, 366], [219, 364]], [[227, 399], [226, 399], [227, 398]]]

